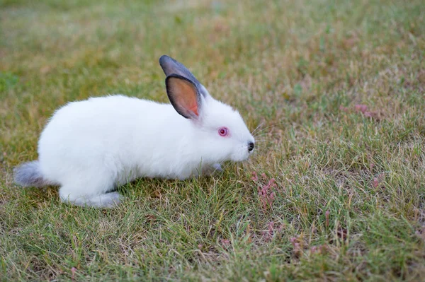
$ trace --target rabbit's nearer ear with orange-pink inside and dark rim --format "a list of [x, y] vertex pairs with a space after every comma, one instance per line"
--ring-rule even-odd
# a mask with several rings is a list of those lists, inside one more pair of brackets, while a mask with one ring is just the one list
[[165, 79], [166, 93], [171, 105], [186, 119], [199, 119], [200, 94], [193, 81], [179, 74]]

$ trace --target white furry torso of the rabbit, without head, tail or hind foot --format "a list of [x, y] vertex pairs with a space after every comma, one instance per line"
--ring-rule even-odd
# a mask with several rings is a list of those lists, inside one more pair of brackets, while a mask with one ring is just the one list
[[188, 148], [187, 139], [181, 139], [181, 131], [188, 139], [193, 134], [189, 120], [179, 117], [171, 105], [121, 95], [72, 102], [57, 111], [41, 134], [41, 170], [60, 181], [57, 167], [64, 161], [75, 165], [76, 172], [101, 163], [119, 184], [141, 176], [184, 179], [198, 156], [196, 148]]

